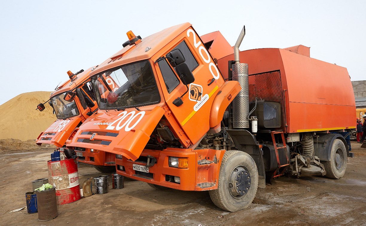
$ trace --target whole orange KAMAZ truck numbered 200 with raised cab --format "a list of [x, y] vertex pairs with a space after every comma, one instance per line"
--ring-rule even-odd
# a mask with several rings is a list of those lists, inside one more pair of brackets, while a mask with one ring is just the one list
[[355, 128], [347, 69], [310, 58], [305, 46], [239, 52], [244, 35], [231, 54], [218, 33], [200, 37], [190, 23], [146, 38], [128, 31], [124, 48], [90, 73], [99, 109], [67, 148], [116, 154], [118, 174], [209, 191], [232, 212], [266, 179], [343, 177], [352, 153], [330, 132]]

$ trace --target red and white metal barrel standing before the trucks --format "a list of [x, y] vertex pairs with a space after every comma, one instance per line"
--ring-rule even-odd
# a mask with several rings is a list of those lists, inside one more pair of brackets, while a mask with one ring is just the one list
[[57, 205], [80, 199], [78, 166], [75, 159], [48, 161], [48, 181], [56, 188]]

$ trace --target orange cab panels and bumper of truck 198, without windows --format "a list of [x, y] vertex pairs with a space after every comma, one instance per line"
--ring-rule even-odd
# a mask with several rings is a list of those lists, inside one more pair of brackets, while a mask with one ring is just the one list
[[[74, 90], [77, 87], [82, 87], [83, 90], [86, 90], [86, 87], [83, 87], [86, 82], [90, 81], [89, 74], [94, 67], [87, 69], [76, 75], [74, 78], [67, 80], [60, 86], [56, 88], [56, 91], [53, 92], [50, 96], [56, 97], [57, 95], [66, 93], [67, 91]], [[90, 94], [87, 94], [88, 97], [93, 101], [90, 97]], [[92, 94], [93, 95], [93, 94]], [[77, 106], [79, 114], [70, 118], [57, 119], [49, 128], [47, 128], [44, 132], [38, 136], [36, 143], [41, 145], [42, 143], [53, 144], [56, 147], [59, 147], [60, 150], [63, 150], [63, 146], [66, 143], [66, 140], [72, 136], [72, 132], [75, 128], [79, 127], [86, 118], [88, 112], [94, 112], [97, 110], [98, 106], [95, 101], [94, 106], [86, 109], [83, 109], [79, 98], [75, 97], [74, 102]], [[114, 155], [105, 153], [104, 151], [91, 152], [90, 149], [83, 149], [83, 151], [75, 150], [79, 152], [78, 160], [79, 162], [90, 164], [90, 165], [99, 165], [99, 166], [114, 166]]]

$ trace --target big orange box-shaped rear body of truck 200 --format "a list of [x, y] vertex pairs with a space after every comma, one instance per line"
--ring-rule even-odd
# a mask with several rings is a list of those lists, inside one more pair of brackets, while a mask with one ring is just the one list
[[[239, 53], [249, 68], [249, 101], [259, 96], [285, 103], [281, 129], [287, 133], [355, 128], [356, 107], [347, 69], [310, 58], [305, 46], [287, 49]], [[234, 60], [233, 54], [218, 60], [224, 78], [229, 60]]]

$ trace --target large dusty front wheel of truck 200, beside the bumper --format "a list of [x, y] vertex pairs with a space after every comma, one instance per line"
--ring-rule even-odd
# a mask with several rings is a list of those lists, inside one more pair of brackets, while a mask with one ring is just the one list
[[221, 162], [219, 184], [209, 191], [213, 203], [226, 211], [247, 208], [258, 188], [258, 170], [253, 158], [242, 151], [226, 151]]

